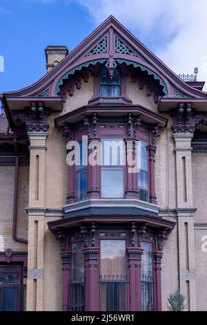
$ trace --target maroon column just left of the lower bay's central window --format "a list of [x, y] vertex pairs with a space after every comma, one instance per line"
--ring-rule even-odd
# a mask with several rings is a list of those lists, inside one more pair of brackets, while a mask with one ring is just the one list
[[99, 248], [85, 248], [86, 311], [99, 310]]

